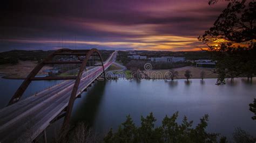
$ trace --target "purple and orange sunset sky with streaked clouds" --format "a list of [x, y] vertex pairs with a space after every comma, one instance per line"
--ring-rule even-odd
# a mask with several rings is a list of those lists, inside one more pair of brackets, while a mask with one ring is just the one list
[[197, 51], [228, 2], [207, 0], [3, 1], [0, 52], [13, 49]]

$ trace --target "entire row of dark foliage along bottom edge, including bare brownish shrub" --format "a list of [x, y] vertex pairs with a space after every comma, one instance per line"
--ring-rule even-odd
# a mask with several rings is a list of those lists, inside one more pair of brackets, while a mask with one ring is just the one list
[[[226, 143], [227, 138], [219, 133], [209, 133], [208, 115], [200, 118], [200, 122], [194, 126], [193, 120], [184, 116], [181, 123], [178, 123], [178, 112], [172, 116], [167, 115], [156, 126], [156, 118], [151, 112], [146, 117], [141, 117], [140, 126], [133, 123], [130, 115], [126, 121], [120, 124], [117, 131], [110, 131], [104, 138], [95, 134], [85, 123], [78, 123], [75, 126], [66, 126], [56, 136], [54, 142], [221, 142]], [[256, 138], [248, 134], [240, 127], [233, 132], [234, 142], [255, 142]]]

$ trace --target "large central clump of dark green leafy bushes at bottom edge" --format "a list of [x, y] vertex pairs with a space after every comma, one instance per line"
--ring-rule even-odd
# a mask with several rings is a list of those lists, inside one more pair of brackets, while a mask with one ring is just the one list
[[217, 142], [218, 134], [207, 133], [208, 115], [200, 119], [200, 123], [192, 128], [193, 121], [183, 118], [177, 123], [178, 112], [171, 117], [165, 116], [161, 126], [155, 127], [156, 118], [151, 112], [146, 118], [141, 117], [141, 124], [136, 127], [130, 116], [113, 133], [112, 128], [104, 138], [104, 142]]

